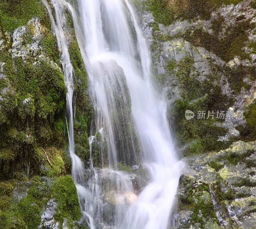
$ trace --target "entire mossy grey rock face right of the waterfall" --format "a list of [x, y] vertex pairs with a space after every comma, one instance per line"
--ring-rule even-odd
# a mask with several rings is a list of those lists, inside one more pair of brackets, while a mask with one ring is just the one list
[[188, 164], [172, 228], [254, 228], [255, 1], [136, 6]]

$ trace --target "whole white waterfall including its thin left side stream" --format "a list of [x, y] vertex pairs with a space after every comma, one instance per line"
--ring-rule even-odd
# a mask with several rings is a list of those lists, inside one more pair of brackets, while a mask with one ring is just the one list
[[[90, 228], [106, 225], [120, 229], [167, 228], [183, 163], [175, 154], [166, 115], [167, 102], [154, 86], [147, 42], [131, 4], [128, 0], [77, 0], [76, 12], [67, 2], [52, 0], [56, 25], [51, 8], [46, 0], [42, 1], [50, 14], [61, 51], [67, 86], [72, 176], [84, 218]], [[63, 33], [64, 6], [72, 14], [88, 72], [96, 114], [95, 130], [104, 130], [106, 142], [102, 169], [95, 169], [92, 158], [95, 137], [89, 138], [88, 182], [84, 180], [83, 163], [74, 153], [73, 68]], [[134, 175], [118, 171], [118, 163], [134, 165], [139, 161], [148, 169], [150, 180], [138, 192], [132, 182]], [[114, 220], [109, 222], [104, 212], [110, 203], [115, 209]]]

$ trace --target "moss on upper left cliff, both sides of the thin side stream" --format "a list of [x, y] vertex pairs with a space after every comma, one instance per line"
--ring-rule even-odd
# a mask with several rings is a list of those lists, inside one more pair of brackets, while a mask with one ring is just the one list
[[[69, 171], [71, 162], [67, 154], [60, 153], [59, 150], [67, 148], [68, 136], [65, 120], [66, 88], [57, 41], [52, 34], [51, 23], [41, 1], [13, 0], [12, 5], [16, 9], [13, 12], [7, 11], [10, 5], [10, 1], [4, 0], [0, 3], [1, 20], [5, 20], [4, 17], [8, 12], [13, 19], [8, 21], [15, 22], [9, 25], [0, 20], [0, 37], [4, 39], [4, 50], [1, 50], [0, 60], [4, 63], [5, 74], [5, 77], [0, 79], [0, 91], [3, 97], [0, 101], [0, 131], [5, 133], [5, 138], [1, 138], [0, 141], [0, 179], [39, 174], [41, 171], [38, 168], [45, 161], [41, 147], [47, 149], [52, 146], [58, 148], [59, 153], [57, 154], [56, 150], [51, 151], [49, 157], [53, 165], [50, 166], [48, 162], [44, 164], [49, 167], [48, 176], [59, 176], [65, 174], [65, 170]], [[23, 13], [27, 5], [29, 5], [26, 11], [28, 18], [25, 18]], [[19, 7], [21, 10], [18, 9]], [[22, 35], [23, 42], [28, 44], [35, 42], [34, 26], [26, 25], [33, 16], [38, 17], [41, 33], [44, 34], [42, 39], [38, 38], [38, 42], [45, 57], [40, 60], [41, 57], [28, 53], [25, 57], [26, 61], [20, 57], [13, 58], [12, 53], [9, 52], [12, 40], [5, 35], [5, 31], [9, 28], [12, 32], [22, 24], [26, 26], [26, 32]], [[74, 123], [76, 151], [83, 160], [86, 160], [89, 155], [87, 131], [90, 126], [88, 123], [91, 122], [92, 106], [87, 93], [87, 74], [75, 32], [71, 31], [71, 34], [73, 37], [70, 39], [69, 52], [74, 66], [77, 103]], [[36, 62], [35, 58], [37, 58]], [[55, 159], [51, 158], [51, 153], [56, 156]], [[14, 170], [15, 172], [11, 172]]]

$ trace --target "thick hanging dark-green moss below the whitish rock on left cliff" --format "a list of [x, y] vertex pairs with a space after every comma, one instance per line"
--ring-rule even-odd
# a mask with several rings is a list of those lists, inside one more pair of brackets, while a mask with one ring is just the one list
[[[42, 160], [38, 143], [64, 144], [65, 133], [60, 131], [63, 126], [53, 128], [52, 123], [55, 114], [64, 108], [65, 83], [62, 73], [48, 63], [34, 67], [29, 62], [24, 64], [21, 59], [14, 59], [14, 69], [8, 67], [8, 58], [12, 66], [9, 56], [4, 71], [9, 84], [15, 88], [9, 92], [13, 98], [9, 96], [1, 104], [4, 110], [0, 109], [0, 131], [6, 133], [6, 137], [0, 142], [0, 163], [13, 162], [18, 156], [18, 161], [25, 162], [22, 166], [28, 175], [29, 172], [38, 171], [38, 164]], [[9, 167], [8, 163], [4, 164]]]

